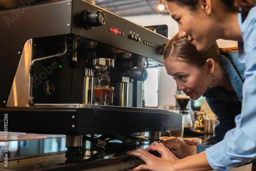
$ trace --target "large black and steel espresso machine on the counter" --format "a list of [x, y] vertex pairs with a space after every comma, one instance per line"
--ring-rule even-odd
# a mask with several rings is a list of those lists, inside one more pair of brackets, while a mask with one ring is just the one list
[[[142, 108], [146, 70], [163, 66], [166, 37], [83, 0], [21, 1], [0, 18], [0, 116], [9, 132], [66, 135], [70, 163], [49, 170], [88, 165], [86, 135], [181, 130], [178, 111]], [[112, 106], [94, 104], [102, 75], [115, 88]]]

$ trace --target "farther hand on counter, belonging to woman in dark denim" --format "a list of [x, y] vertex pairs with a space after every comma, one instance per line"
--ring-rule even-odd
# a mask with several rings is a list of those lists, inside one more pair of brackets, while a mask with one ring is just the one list
[[176, 157], [182, 159], [197, 154], [197, 142], [173, 138], [162, 142]]

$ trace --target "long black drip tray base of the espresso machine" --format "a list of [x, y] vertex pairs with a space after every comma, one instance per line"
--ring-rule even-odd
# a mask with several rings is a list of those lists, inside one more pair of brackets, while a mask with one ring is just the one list
[[[8, 131], [86, 135], [181, 130], [179, 111], [84, 104], [37, 104], [0, 108], [8, 114]], [[0, 129], [4, 130], [4, 120]], [[2, 126], [2, 127], [1, 127]]]

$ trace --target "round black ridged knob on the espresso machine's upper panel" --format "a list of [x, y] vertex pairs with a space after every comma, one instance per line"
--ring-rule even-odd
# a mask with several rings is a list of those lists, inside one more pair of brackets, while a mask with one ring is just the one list
[[92, 12], [91, 10], [87, 10], [83, 13], [83, 22], [88, 29], [93, 29], [94, 27], [104, 25], [105, 20], [106, 16], [100, 10]]

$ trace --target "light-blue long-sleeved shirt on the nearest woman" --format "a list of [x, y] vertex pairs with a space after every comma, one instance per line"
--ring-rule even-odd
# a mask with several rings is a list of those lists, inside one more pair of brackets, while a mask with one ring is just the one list
[[243, 106], [236, 117], [236, 127], [228, 131], [221, 142], [206, 148], [207, 160], [217, 170], [256, 159], [256, 7], [250, 10], [243, 24], [239, 14], [239, 25], [244, 40], [239, 60], [246, 66]]

